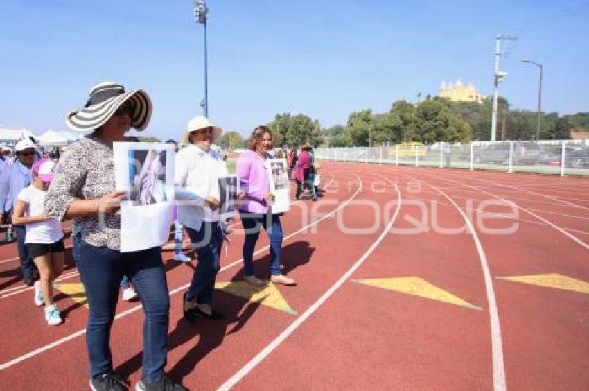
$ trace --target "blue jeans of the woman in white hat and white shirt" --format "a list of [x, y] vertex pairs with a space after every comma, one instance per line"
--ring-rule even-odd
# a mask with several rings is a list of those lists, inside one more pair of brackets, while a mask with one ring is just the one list
[[215, 290], [215, 279], [220, 269], [219, 257], [223, 234], [219, 223], [211, 221], [204, 221], [198, 231], [190, 227], [184, 228], [188, 232], [188, 237], [190, 237], [198, 257], [186, 300], [196, 299], [199, 304], [211, 304], [213, 290]]

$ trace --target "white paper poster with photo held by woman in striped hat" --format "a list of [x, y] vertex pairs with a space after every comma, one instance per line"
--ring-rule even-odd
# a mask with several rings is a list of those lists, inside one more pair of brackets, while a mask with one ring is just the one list
[[167, 143], [113, 143], [121, 202], [121, 252], [146, 250], [168, 241], [174, 203], [174, 146]]

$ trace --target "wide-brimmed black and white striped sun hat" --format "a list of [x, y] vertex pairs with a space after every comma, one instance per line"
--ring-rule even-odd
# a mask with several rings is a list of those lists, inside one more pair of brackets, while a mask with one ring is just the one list
[[84, 108], [69, 112], [65, 123], [78, 132], [94, 130], [104, 125], [125, 101], [133, 105], [131, 126], [139, 131], [145, 129], [152, 113], [149, 95], [143, 89], [125, 92], [125, 87], [116, 82], [100, 82], [92, 87]]

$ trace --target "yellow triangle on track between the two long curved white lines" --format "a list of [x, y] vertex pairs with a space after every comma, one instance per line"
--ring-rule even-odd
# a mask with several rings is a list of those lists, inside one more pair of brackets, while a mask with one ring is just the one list
[[393, 290], [395, 292], [407, 293], [408, 295], [425, 297], [426, 299], [437, 300], [439, 302], [455, 304], [467, 309], [481, 309], [419, 277], [358, 279], [352, 281], [364, 285], [376, 286], [377, 288]]

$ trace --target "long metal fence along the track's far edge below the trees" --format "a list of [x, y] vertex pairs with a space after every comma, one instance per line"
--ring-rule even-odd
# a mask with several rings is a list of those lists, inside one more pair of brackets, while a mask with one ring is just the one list
[[319, 159], [411, 166], [466, 168], [556, 175], [589, 175], [589, 139], [545, 141], [473, 141], [425, 146], [317, 148]]

